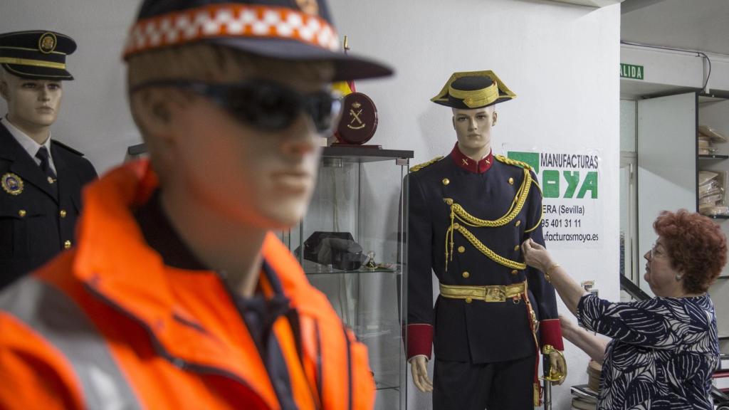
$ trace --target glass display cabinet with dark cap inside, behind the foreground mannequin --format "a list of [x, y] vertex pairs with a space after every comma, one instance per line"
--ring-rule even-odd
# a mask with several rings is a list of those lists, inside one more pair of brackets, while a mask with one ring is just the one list
[[[281, 239], [367, 345], [375, 409], [406, 409], [407, 198], [413, 151], [325, 147], [304, 220]], [[405, 222], [403, 222], [405, 221]]]

